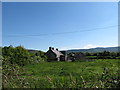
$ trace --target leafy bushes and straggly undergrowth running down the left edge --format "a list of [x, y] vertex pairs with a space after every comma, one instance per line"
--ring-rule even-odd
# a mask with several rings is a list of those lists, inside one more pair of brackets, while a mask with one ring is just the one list
[[14, 82], [14, 76], [17, 76], [19, 73], [23, 72], [23, 66], [44, 62], [46, 59], [47, 57], [42, 51], [30, 53], [22, 46], [9, 46], [2, 48], [2, 55], [0, 61], [2, 61], [3, 83], [7, 82], [9, 86], [9, 80], [12, 80]]

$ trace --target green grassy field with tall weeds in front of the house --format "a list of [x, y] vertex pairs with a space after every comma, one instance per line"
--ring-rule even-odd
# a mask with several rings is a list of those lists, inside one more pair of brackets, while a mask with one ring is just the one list
[[9, 78], [11, 88], [116, 88], [119, 86], [119, 60], [90, 62], [43, 62], [23, 67]]

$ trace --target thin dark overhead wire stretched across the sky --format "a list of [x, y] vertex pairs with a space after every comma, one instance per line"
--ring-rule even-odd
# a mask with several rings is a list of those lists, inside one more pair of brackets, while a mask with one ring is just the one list
[[120, 26], [120, 25], [107, 26], [107, 27], [101, 27], [101, 28], [93, 28], [93, 29], [85, 29], [85, 30], [76, 30], [76, 31], [69, 31], [69, 32], [57, 32], [57, 33], [33, 34], [33, 35], [23, 35], [23, 34], [10, 35], [9, 34], [9, 35], [3, 35], [3, 36], [4, 37], [36, 37], [36, 36], [48, 36], [48, 35], [60, 35], [60, 34], [69, 34], [69, 33], [77, 33], [77, 32], [102, 30], [102, 29], [114, 28], [114, 27], [118, 27], [118, 26]]

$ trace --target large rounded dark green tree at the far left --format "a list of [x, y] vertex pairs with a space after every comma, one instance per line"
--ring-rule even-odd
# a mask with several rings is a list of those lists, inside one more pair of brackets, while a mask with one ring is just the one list
[[12, 46], [4, 47], [2, 54], [11, 64], [24, 66], [29, 62], [29, 52], [22, 46], [16, 48], [13, 48]]

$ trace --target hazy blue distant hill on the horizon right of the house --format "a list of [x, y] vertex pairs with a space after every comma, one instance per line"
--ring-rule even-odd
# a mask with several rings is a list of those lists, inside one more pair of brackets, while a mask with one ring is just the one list
[[120, 50], [120, 47], [97, 47], [97, 48], [90, 48], [90, 49], [71, 49], [67, 50], [67, 53], [70, 52], [89, 52], [89, 53], [94, 53], [94, 52], [103, 52], [103, 51], [109, 51], [109, 52], [118, 52]]

